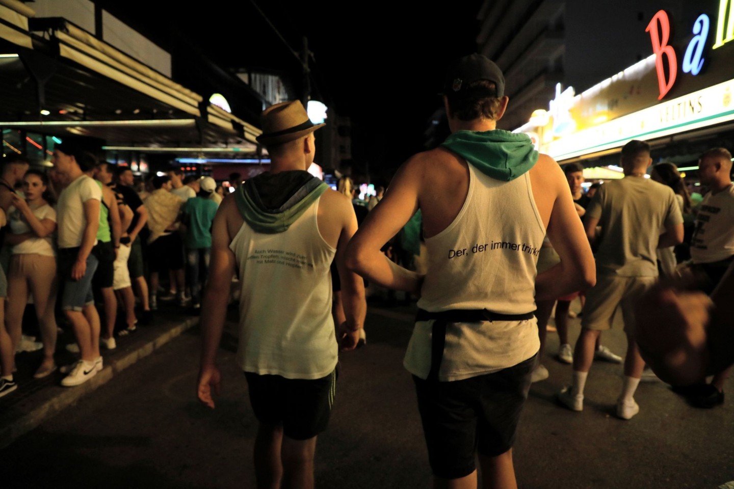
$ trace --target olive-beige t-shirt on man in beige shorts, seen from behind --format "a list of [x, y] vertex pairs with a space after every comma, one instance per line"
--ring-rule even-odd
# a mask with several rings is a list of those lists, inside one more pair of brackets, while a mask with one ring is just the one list
[[683, 224], [672, 189], [642, 177], [624, 177], [599, 187], [584, 218], [599, 219], [597, 273], [657, 276], [658, 238]]

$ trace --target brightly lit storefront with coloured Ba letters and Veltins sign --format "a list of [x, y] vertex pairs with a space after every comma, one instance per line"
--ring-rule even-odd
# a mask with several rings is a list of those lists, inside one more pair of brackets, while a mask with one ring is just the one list
[[[561, 164], [619, 163], [631, 139], [648, 141], [653, 160], [697, 169], [710, 147], [734, 146], [734, 1], [679, 19], [667, 12], [647, 24], [650, 56], [581, 94], [556, 86], [548, 109], [534, 112], [515, 132], [528, 133], [540, 152]], [[705, 2], [713, 6], [713, 2]]]

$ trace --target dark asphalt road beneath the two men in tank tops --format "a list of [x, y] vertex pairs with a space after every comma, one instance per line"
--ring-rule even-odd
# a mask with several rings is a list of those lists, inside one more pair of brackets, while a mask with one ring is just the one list
[[[341, 356], [330, 427], [316, 450], [317, 487], [430, 487], [413, 382], [402, 367], [411, 315], [410, 307], [371, 308], [367, 345]], [[254, 487], [257, 422], [233, 361], [233, 326], [219, 355], [225, 379], [216, 409], [195, 399], [194, 328], [1, 450], [0, 488]], [[621, 328], [603, 343], [623, 353]], [[520, 488], [713, 489], [734, 481], [733, 399], [700, 410], [664, 383], [643, 383], [640, 413], [622, 421], [614, 416], [622, 367], [595, 362], [584, 411], [568, 411], [554, 401], [571, 375], [553, 359], [557, 348], [549, 333], [542, 363], [551, 377], [532, 386], [515, 444]], [[734, 394], [731, 379], [727, 388]]]

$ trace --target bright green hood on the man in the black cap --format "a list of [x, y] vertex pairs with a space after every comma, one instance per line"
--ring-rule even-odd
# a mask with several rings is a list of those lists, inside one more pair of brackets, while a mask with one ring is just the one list
[[515, 180], [538, 161], [538, 152], [527, 134], [501, 129], [457, 130], [441, 146], [465, 158], [487, 177], [506, 182]]

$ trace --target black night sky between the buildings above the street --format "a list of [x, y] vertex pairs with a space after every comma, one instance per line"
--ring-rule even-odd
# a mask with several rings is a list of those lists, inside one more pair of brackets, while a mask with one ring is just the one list
[[[154, 42], [164, 44], [168, 29], [177, 29], [219, 65], [284, 70], [296, 80], [302, 65], [292, 51], [308, 37], [311, 98], [351, 117], [355, 169], [388, 170], [423, 149], [424, 130], [440, 107], [443, 70], [476, 50], [482, 6], [481, 0], [258, 0], [214, 3], [211, 12], [202, 10], [205, 4], [177, 4], [161, 18], [139, 0], [98, 3], [123, 21], [132, 16]], [[232, 7], [222, 8], [226, 3]]]

